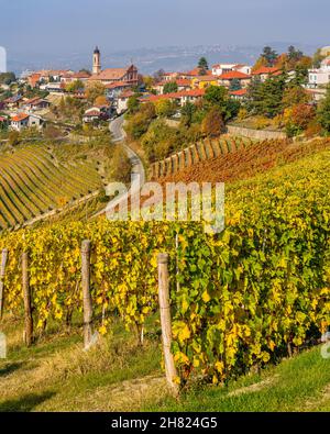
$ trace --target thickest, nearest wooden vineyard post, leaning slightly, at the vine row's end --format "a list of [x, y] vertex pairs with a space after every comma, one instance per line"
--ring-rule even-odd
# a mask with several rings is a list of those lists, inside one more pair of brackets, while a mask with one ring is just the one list
[[166, 380], [173, 392], [177, 394], [178, 386], [175, 382], [175, 378], [177, 378], [177, 370], [170, 350], [172, 321], [169, 307], [168, 255], [164, 253], [158, 255], [158, 297]]

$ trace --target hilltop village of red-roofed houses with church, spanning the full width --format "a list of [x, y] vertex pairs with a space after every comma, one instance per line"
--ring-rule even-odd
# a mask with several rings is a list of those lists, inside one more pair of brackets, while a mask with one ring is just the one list
[[[172, 101], [177, 108], [172, 116], [179, 119], [180, 108], [187, 103], [198, 103], [210, 87], [226, 88], [228, 96], [244, 107], [251, 98], [253, 84], [265, 82], [284, 74], [287, 81], [295, 80], [304, 68], [301, 88], [309, 96], [309, 103], [317, 104], [326, 97], [330, 82], [330, 47], [321, 48], [318, 54], [319, 60], [314, 63], [302, 53], [293, 52], [300, 62], [298, 69], [297, 63], [289, 66], [285, 54], [278, 56], [276, 62], [268, 58], [254, 66], [219, 63], [209, 68], [207, 59], [202, 58], [189, 71], [160, 70], [153, 77], [145, 77], [139, 74], [134, 65], [102, 69], [101, 53], [96, 47], [91, 71], [40, 70], [23, 73], [19, 78], [11, 75], [8, 81], [0, 85], [0, 129], [21, 132], [33, 127], [41, 131], [47, 122], [61, 119], [58, 108], [61, 111], [61, 103], [67, 98], [75, 101], [81, 113], [75, 123], [94, 126], [124, 113], [129, 101], [135, 97], [139, 103]], [[54, 111], [58, 119], [52, 115]]]

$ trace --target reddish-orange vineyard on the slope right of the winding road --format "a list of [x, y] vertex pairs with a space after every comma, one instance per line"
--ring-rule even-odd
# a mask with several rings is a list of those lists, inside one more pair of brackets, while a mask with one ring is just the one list
[[[245, 140], [242, 142], [242, 140], [232, 138], [229, 151], [229, 146], [226, 147], [223, 144], [227, 142], [228, 140], [206, 142], [202, 145], [206, 149], [212, 144], [213, 149], [217, 149], [218, 146], [218, 153], [207, 153], [208, 158], [191, 158], [189, 165], [177, 166], [173, 163], [169, 164], [169, 159], [167, 163], [156, 164], [157, 170], [156, 166], [153, 167], [154, 179], [158, 179], [162, 183], [179, 181], [233, 182], [251, 178], [273, 167], [295, 162], [330, 146], [329, 138], [314, 140], [307, 143], [290, 143], [285, 140], [263, 142]], [[219, 146], [219, 143], [222, 145]], [[193, 153], [193, 148], [195, 147], [189, 148], [189, 153]], [[224, 151], [220, 153], [220, 148]], [[172, 157], [172, 162], [175, 160], [177, 160], [177, 156]]]

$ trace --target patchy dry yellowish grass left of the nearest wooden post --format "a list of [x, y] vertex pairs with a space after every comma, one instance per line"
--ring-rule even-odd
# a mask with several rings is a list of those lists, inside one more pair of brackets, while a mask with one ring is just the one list
[[166, 389], [155, 336], [141, 347], [114, 322], [86, 353], [77, 324], [69, 332], [51, 329], [31, 348], [22, 329], [13, 320], [0, 327], [9, 341], [8, 358], [0, 360], [0, 412], [139, 410], [143, 396], [155, 396], [160, 385]]

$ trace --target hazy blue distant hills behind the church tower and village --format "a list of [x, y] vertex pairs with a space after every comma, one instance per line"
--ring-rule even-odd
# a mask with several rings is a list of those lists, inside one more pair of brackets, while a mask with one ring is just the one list
[[[102, 66], [119, 67], [133, 60], [143, 74], [152, 74], [157, 69], [186, 70], [196, 66], [201, 56], [206, 56], [210, 65], [218, 62], [253, 63], [263, 49], [271, 45], [279, 53], [295, 45], [307, 54], [312, 54], [317, 45], [304, 45], [294, 42], [266, 42], [263, 45], [200, 45], [168, 46], [156, 48], [139, 48], [132, 51], [111, 52], [103, 47]], [[91, 67], [91, 53], [35, 54], [22, 52], [8, 53], [8, 69], [20, 74], [24, 69], [68, 68], [81, 69]]]

